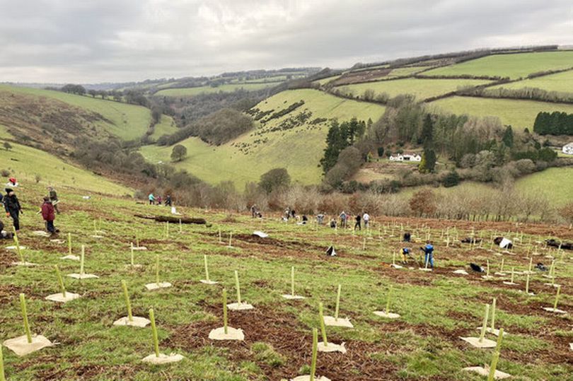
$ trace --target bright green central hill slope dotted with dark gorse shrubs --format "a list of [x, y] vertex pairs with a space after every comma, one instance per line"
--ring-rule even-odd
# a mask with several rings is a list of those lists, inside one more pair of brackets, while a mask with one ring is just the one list
[[[292, 180], [316, 184], [320, 182], [318, 162], [323, 156], [330, 122], [311, 122], [317, 118], [376, 120], [384, 112], [384, 107], [379, 105], [345, 100], [309, 89], [284, 91], [263, 100], [256, 107], [277, 112], [299, 100], [305, 103], [293, 112], [272, 119], [265, 126], [259, 125], [257, 129], [221, 146], [209, 146], [197, 138], [186, 139], [181, 143], [187, 147], [187, 158], [175, 163], [175, 167], [184, 168], [212, 184], [233, 180], [238, 189], [243, 189], [246, 182], [258, 182], [260, 175], [267, 170], [281, 167], [289, 170]], [[268, 131], [305, 110], [312, 112], [312, 116], [301, 126], [285, 131]], [[152, 162], [166, 162], [172, 149], [146, 146], [141, 148], [141, 153]]]

